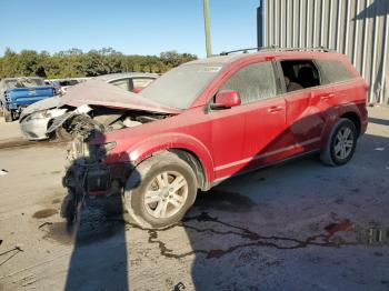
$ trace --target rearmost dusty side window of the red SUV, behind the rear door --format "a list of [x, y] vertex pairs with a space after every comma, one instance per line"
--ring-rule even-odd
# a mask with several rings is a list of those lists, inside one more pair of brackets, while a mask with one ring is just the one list
[[339, 61], [318, 60], [317, 61], [323, 84], [337, 83], [352, 79], [352, 73]]

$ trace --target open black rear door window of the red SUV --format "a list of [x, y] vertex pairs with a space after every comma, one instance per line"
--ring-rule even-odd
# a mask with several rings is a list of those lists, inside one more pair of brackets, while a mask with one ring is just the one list
[[311, 60], [288, 60], [280, 62], [287, 92], [320, 86], [319, 71]]

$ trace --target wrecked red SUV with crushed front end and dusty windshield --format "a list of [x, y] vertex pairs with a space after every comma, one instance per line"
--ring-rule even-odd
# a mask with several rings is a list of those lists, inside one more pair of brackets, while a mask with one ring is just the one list
[[130, 128], [74, 140], [62, 213], [81, 197], [123, 194], [136, 223], [163, 228], [182, 219], [198, 189], [229, 177], [307, 153], [345, 164], [367, 129], [367, 90], [348, 59], [327, 50], [182, 64], [129, 99]]

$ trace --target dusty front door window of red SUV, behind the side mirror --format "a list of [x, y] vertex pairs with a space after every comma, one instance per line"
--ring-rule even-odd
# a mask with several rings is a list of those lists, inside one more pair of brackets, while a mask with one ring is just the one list
[[272, 63], [260, 62], [241, 69], [220, 88], [226, 89], [239, 92], [242, 104], [277, 96]]

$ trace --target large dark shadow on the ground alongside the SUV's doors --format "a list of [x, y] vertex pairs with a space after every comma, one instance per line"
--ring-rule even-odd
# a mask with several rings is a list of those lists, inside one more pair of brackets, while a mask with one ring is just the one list
[[[371, 213], [360, 218], [350, 211], [349, 205], [352, 203], [355, 208], [363, 203], [360, 197], [355, 199], [353, 195], [369, 189], [375, 191], [369, 187], [365, 190], [360, 182], [363, 174], [356, 174], [350, 168], [367, 168], [367, 171], [379, 173], [377, 168], [385, 171], [385, 167], [389, 167], [385, 164], [389, 161], [388, 153], [376, 151], [377, 147], [388, 148], [389, 139], [363, 134], [356, 157], [343, 165], [346, 169], [326, 167], [315, 155], [301, 157], [282, 167], [273, 165], [231, 178], [210, 193], [199, 195], [183, 220], [192, 247], [191, 254], [194, 254], [191, 267], [194, 289], [286, 290], [295, 285], [292, 290], [301, 290], [301, 282], [295, 281], [295, 274], [303, 274], [308, 290], [320, 289], [320, 283], [326, 285], [328, 280], [333, 282], [333, 289], [352, 287], [353, 279], [339, 273], [329, 271], [326, 280], [312, 277], [315, 272], [320, 273], [322, 265], [320, 262], [310, 264], [309, 258], [315, 253], [321, 260], [330, 261], [332, 255], [342, 258], [342, 253], [347, 253], [341, 247], [367, 248], [389, 243], [386, 235], [376, 240], [376, 234], [371, 234], [386, 233], [387, 230], [360, 227], [369, 221], [385, 223], [376, 220], [379, 212], [385, 212], [383, 207], [378, 205], [376, 213], [372, 213], [372, 208]], [[379, 167], [377, 163], [380, 163]], [[331, 187], [337, 181], [342, 181], [341, 185]], [[333, 191], [328, 191], [332, 188]], [[216, 195], [212, 195], [213, 191]], [[365, 198], [371, 200], [377, 195], [371, 193], [371, 197], [366, 194]], [[298, 227], [293, 229], [296, 224]], [[307, 259], [296, 263], [295, 255]], [[333, 261], [337, 261], [338, 269], [345, 270], [352, 265], [349, 260]], [[308, 265], [310, 270], [307, 270]], [[369, 268], [360, 265], [358, 272], [369, 278]], [[375, 270], [379, 272], [379, 267]], [[315, 285], [315, 282], [318, 284]]]

